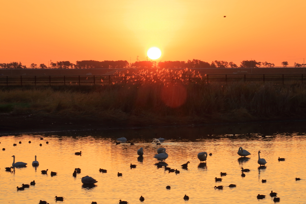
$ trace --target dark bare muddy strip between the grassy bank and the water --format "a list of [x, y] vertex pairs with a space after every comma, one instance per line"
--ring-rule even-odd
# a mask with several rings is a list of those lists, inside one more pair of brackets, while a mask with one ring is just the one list
[[181, 128], [181, 127], [208, 127], [208, 126], [233, 126], [233, 125], [259, 125], [272, 123], [290, 123], [304, 122], [306, 117], [288, 117], [288, 118], [266, 118], [253, 119], [243, 121], [211, 121], [211, 122], [195, 122], [195, 121], [173, 121], [160, 122], [150, 121], [143, 122], [141, 118], [126, 119], [124, 121], [110, 120], [108, 118], [64, 118], [47, 117], [47, 116], [1, 116], [0, 136], [31, 134], [31, 133], [51, 133], [51, 132], [75, 132], [75, 131], [93, 131], [93, 130], [123, 130], [123, 129], [147, 129], [147, 128]]

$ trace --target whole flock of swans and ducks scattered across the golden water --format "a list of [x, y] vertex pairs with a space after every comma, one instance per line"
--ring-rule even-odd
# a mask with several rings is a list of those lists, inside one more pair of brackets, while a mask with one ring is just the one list
[[[40, 139], [42, 140], [43, 138], [40, 138]], [[117, 140], [118, 140], [119, 142], [116, 142], [116, 145], [121, 144], [121, 142], [126, 142], [127, 139], [126, 139], [125, 137], [122, 137], [122, 138], [118, 138]], [[160, 141], [161, 141], [161, 140], [165, 140], [165, 139], [163, 139], [163, 138], [154, 139], [154, 141], [153, 141], [152, 143], [156, 143], [156, 145], [160, 145]], [[31, 143], [31, 141], [29, 141], [29, 143]], [[46, 143], [48, 144], [48, 142], [46, 142]], [[21, 141], [19, 142], [19, 144], [21, 144]], [[131, 143], [130, 145], [134, 145], [134, 143]], [[13, 146], [16, 146], [16, 144], [13, 144]], [[40, 146], [41, 146], [41, 144], [40, 144]], [[4, 149], [4, 148], [3, 148], [3, 149]], [[4, 149], [4, 150], [5, 150], [5, 149]], [[260, 158], [260, 153], [261, 153], [261, 152], [258, 151], [258, 161], [257, 161], [257, 163], [260, 165], [259, 168], [261, 168], [262, 165], [265, 167], [265, 165], [267, 164], [267, 161], [266, 161], [264, 158]], [[75, 152], [74, 154], [75, 154], [75, 155], [81, 155], [81, 154], [82, 154], [82, 151], [80, 151], [80, 152]], [[143, 147], [140, 147], [140, 149], [137, 150], [137, 154], [138, 154], [140, 157], [143, 157], [143, 155], [144, 155]], [[241, 156], [241, 158], [242, 158], [242, 157], [246, 157], [246, 156], [250, 155], [251, 153], [249, 153], [247, 150], [243, 149], [242, 147], [239, 147], [237, 154], [238, 154], [239, 156]], [[210, 153], [209, 155], [212, 155], [212, 153]], [[15, 156], [13, 155], [12, 157], [13, 157], [12, 166], [11, 166], [11, 167], [5, 167], [6, 171], [9, 171], [9, 172], [10, 172], [11, 169], [13, 169], [14, 167], [23, 167], [23, 166], [26, 166], [26, 165], [27, 165], [27, 163], [25, 163], [25, 162], [21, 162], [21, 161], [15, 162]], [[206, 153], [206, 152], [200, 152], [200, 153], [198, 153], [198, 154], [197, 154], [197, 157], [198, 157], [198, 159], [200, 160], [201, 163], [205, 161], [205, 164], [206, 164], [206, 160], [207, 160], [207, 153]], [[175, 172], [176, 174], [180, 173], [180, 171], [177, 170], [177, 169], [171, 169], [170, 167], [167, 167], [167, 166], [165, 165], [166, 163], [163, 162], [165, 159], [168, 158], [168, 154], [166, 153], [166, 148], [159, 148], [159, 149], [157, 149], [157, 154], [154, 156], [154, 158], [160, 160], [160, 162], [156, 164], [156, 165], [157, 165], [157, 168], [162, 168], [162, 167], [164, 167], [164, 169], [167, 170], [167, 171], [169, 171], [169, 172]], [[280, 157], [278, 157], [278, 161], [285, 161], [285, 158], [280, 158]], [[183, 168], [183, 169], [187, 169], [189, 163], [190, 163], [190, 162], [187, 161], [185, 164], [182, 164], [182, 165], [181, 165], [182, 168]], [[37, 161], [37, 157], [36, 157], [36, 155], [35, 155], [35, 161], [32, 162], [32, 166], [38, 166], [38, 165], [39, 165], [39, 162]], [[133, 165], [132, 163], [130, 164], [130, 168], [131, 168], [131, 169], [132, 169], [132, 168], [136, 168], [136, 166], [137, 166], [137, 165]], [[243, 167], [241, 167], [241, 172], [242, 172], [241, 176], [244, 177], [244, 176], [245, 176], [244, 172], [249, 172], [249, 171], [250, 171], [250, 169], [244, 169]], [[48, 172], [48, 169], [47, 169], [47, 170], [42, 170], [42, 171], [41, 171], [42, 174], [47, 174], [47, 172]], [[80, 168], [75, 168], [75, 169], [74, 169], [74, 172], [73, 172], [73, 176], [76, 177], [77, 173], [80, 173], [80, 172], [81, 172], [81, 169], [80, 169]], [[106, 173], [107, 170], [106, 170], [106, 169], [101, 169], [101, 168], [100, 168], [100, 169], [99, 169], [99, 172]], [[55, 176], [55, 175], [57, 175], [57, 172], [52, 172], [52, 171], [51, 171], [50, 174], [51, 174], [51, 176]], [[221, 172], [221, 173], [220, 173], [220, 176], [226, 176], [226, 174], [227, 174], [226, 172]], [[122, 176], [122, 173], [119, 173], [119, 172], [118, 172], [118, 173], [117, 173], [117, 176]], [[295, 180], [300, 180], [300, 178], [295, 178]], [[216, 181], [216, 182], [221, 182], [221, 181], [222, 181], [222, 178], [217, 178], [217, 177], [215, 177], [215, 181]], [[90, 177], [90, 176], [84, 176], [84, 177], [82, 177], [81, 182], [82, 182], [82, 184], [84, 184], [84, 185], [93, 185], [93, 184], [97, 183], [98, 181], [95, 180], [94, 178]], [[262, 182], [265, 183], [265, 182], [267, 182], [267, 180], [262, 180]], [[35, 180], [33, 180], [32, 182], [30, 182], [30, 185], [35, 185]], [[23, 191], [25, 188], [29, 188], [30, 185], [29, 185], [29, 184], [22, 184], [21, 187], [18, 187], [18, 186], [17, 186], [17, 191]], [[215, 189], [222, 190], [223, 187], [224, 187], [224, 186], [220, 185], [220, 186], [215, 186], [214, 188], [215, 188]], [[236, 184], [230, 184], [228, 187], [230, 187], [230, 188], [236, 187]], [[166, 189], [170, 189], [170, 188], [171, 188], [170, 186], [166, 186]], [[276, 196], [277, 196], [277, 193], [276, 193], [276, 192], [271, 191], [270, 196], [271, 196], [271, 197], [274, 197], [274, 199], [273, 199], [274, 202], [279, 202], [279, 201], [280, 201], [280, 198], [276, 197]], [[266, 195], [260, 195], [260, 194], [257, 195], [257, 199], [263, 199], [263, 198], [265, 198], [265, 197], [266, 197]], [[189, 200], [188, 195], [185, 195], [183, 199], [184, 199], [184, 200]], [[63, 200], [64, 200], [64, 197], [55, 196], [55, 200], [56, 200], [56, 201], [63, 201]], [[143, 202], [143, 201], [144, 201], [144, 197], [141, 195], [140, 198], [139, 198], [139, 200], [140, 200], [141, 202]], [[119, 204], [127, 204], [127, 203], [128, 203], [127, 201], [119, 200]], [[39, 204], [49, 204], [49, 203], [47, 203], [46, 201], [40, 200], [40, 201], [39, 201]], [[96, 202], [92, 202], [92, 204], [96, 204]]]

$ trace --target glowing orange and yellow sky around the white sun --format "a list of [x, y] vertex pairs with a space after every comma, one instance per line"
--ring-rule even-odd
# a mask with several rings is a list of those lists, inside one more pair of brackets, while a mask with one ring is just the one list
[[162, 50], [157, 61], [306, 58], [304, 0], [3, 0], [0, 8], [0, 62], [134, 62], [152, 46]]

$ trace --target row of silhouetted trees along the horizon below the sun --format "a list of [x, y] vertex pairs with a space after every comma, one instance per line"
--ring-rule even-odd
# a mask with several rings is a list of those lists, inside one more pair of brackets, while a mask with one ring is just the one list
[[[287, 67], [288, 61], [282, 62], [283, 67]], [[102, 68], [247, 68], [247, 67], [274, 67], [273, 63], [257, 62], [256, 60], [243, 60], [240, 62], [240, 65], [236, 65], [233, 62], [227, 61], [212, 61], [211, 63], [201, 61], [201, 60], [188, 60], [185, 61], [136, 61], [134, 63], [129, 63], [128, 61], [118, 60], [118, 61], [95, 61], [95, 60], [82, 60], [76, 61], [75, 64], [70, 61], [57, 61], [50, 62], [50, 68], [52, 69], [102, 69]], [[294, 62], [294, 67], [305, 67], [306, 64], [299, 64]], [[10, 62], [10, 63], [0, 63], [0, 68], [2, 69], [26, 69], [25, 65], [22, 65], [21, 62]], [[30, 65], [32, 69], [46, 69], [47, 65], [44, 63], [39, 66], [35, 63]]]

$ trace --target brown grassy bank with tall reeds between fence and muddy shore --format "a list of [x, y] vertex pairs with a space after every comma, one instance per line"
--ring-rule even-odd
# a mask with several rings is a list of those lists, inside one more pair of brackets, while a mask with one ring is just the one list
[[142, 82], [110, 86], [2, 87], [0, 113], [118, 121], [224, 122], [304, 117], [306, 85]]

